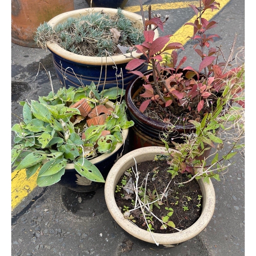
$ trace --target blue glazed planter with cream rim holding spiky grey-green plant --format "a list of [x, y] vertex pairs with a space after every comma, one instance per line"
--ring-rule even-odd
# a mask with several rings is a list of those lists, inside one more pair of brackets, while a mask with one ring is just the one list
[[[52, 18], [49, 21], [49, 25], [54, 28], [58, 24], [65, 22], [69, 17], [77, 17], [80, 14], [87, 15], [89, 11], [104, 11], [110, 15], [117, 13], [117, 9], [111, 8], [80, 9], [62, 13]], [[140, 15], [129, 11], [122, 12], [127, 18], [135, 22], [135, 26], [138, 28], [143, 27]], [[103, 88], [109, 89], [116, 87], [117, 83], [119, 88], [126, 89], [127, 84], [135, 77], [134, 74], [129, 74], [128, 71], [125, 70], [127, 62], [132, 58], [126, 58], [122, 54], [111, 57], [91, 57], [66, 51], [54, 42], [48, 42], [47, 47], [52, 53], [54, 67], [62, 86], [78, 87], [82, 84], [90, 85], [93, 81], [96, 86], [98, 85], [99, 91]], [[129, 56], [129, 54], [126, 55]], [[140, 57], [141, 54], [134, 53], [134, 56]], [[117, 70], [113, 68], [115, 66]], [[146, 67], [142, 66], [138, 70], [144, 72], [146, 69]], [[116, 77], [116, 74], [120, 74], [121, 70], [122, 76]], [[63, 77], [65, 77], [65, 79]]]

